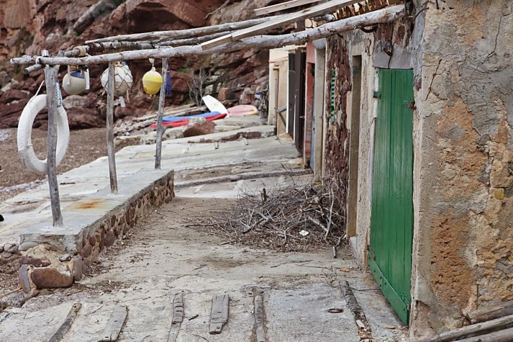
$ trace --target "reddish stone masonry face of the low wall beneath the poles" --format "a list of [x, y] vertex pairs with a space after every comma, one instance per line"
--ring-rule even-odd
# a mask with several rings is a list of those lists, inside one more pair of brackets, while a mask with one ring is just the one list
[[125, 205], [84, 228], [81, 246], [77, 246], [75, 255], [49, 243], [31, 243], [34, 246], [22, 252], [21, 257], [19, 284], [22, 289], [28, 293], [34, 289], [70, 287], [73, 281], [82, 279], [102, 251], [122, 239], [154, 208], [171, 201], [174, 197], [173, 184], [173, 172], [170, 172], [133, 196]]

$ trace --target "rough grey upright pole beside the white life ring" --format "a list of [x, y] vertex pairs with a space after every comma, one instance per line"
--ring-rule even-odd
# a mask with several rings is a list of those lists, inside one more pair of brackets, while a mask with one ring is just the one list
[[[43, 50], [43, 55], [48, 55], [47, 50]], [[61, 53], [60, 53], [61, 54]], [[63, 225], [63, 215], [61, 212], [61, 200], [59, 198], [59, 186], [57, 182], [57, 88], [55, 86], [58, 73], [58, 66], [46, 66], [46, 105], [48, 107], [48, 151], [46, 156], [46, 165], [48, 172], [48, 186], [50, 188], [50, 203], [52, 206], [53, 226]]]

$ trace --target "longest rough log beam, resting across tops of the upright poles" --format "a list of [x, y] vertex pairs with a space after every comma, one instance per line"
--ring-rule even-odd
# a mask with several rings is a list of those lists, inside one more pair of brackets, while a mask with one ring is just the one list
[[117, 53], [108, 53], [88, 57], [40, 57], [23, 56], [12, 58], [11, 64], [33, 64], [39, 58], [41, 64], [50, 65], [92, 65], [106, 64], [109, 62], [130, 61], [133, 59], [163, 58], [173, 56], [189, 55], [209, 55], [213, 53], [226, 53], [251, 48], [272, 49], [286, 45], [305, 44], [309, 41], [326, 38], [334, 34], [351, 31], [359, 26], [371, 26], [380, 23], [394, 21], [399, 16], [404, 15], [404, 6], [397, 5], [387, 7], [374, 12], [353, 16], [332, 23], [327, 23], [319, 27], [308, 29], [301, 32], [282, 34], [282, 35], [263, 35], [242, 39], [238, 42], [232, 42], [224, 46], [216, 47], [210, 50], [203, 50], [200, 46], [181, 46], [176, 48], [161, 48], [139, 51], [125, 51]]

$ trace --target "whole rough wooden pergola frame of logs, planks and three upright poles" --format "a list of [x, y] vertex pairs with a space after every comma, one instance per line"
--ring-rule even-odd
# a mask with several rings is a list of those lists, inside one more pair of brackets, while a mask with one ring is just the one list
[[[250, 19], [244, 22], [214, 25], [210, 27], [194, 28], [179, 31], [160, 31], [138, 34], [125, 34], [87, 41], [84, 48], [77, 47], [70, 51], [59, 51], [56, 56], [49, 56], [48, 51], [42, 51], [41, 56], [23, 56], [12, 58], [13, 65], [31, 66], [24, 69], [25, 73], [45, 68], [47, 106], [48, 106], [48, 183], [50, 186], [50, 200], [54, 226], [62, 226], [63, 219], [58, 194], [56, 175], [55, 150], [57, 145], [56, 127], [56, 87], [58, 68], [67, 66], [88, 66], [93, 64], [108, 64], [109, 78], [107, 82], [107, 151], [109, 160], [109, 178], [112, 193], [117, 193], [117, 174], [113, 139], [113, 103], [114, 103], [114, 72], [115, 62], [130, 61], [134, 59], [162, 58], [163, 84], [160, 90], [159, 111], [157, 114], [155, 169], [160, 169], [162, 158], [162, 136], [165, 128], [162, 125], [164, 100], [166, 95], [166, 71], [168, 58], [188, 55], [208, 55], [214, 53], [227, 53], [251, 48], [279, 48], [287, 45], [301, 45], [351, 31], [360, 27], [367, 27], [380, 23], [392, 22], [404, 15], [404, 6], [397, 5], [362, 15], [352, 16], [326, 23], [316, 28], [290, 34], [257, 35], [287, 23], [298, 22], [305, 18], [327, 14], [344, 6], [355, 4], [361, 0], [331, 0], [313, 6], [309, 10], [286, 15]], [[314, 1], [295, 1], [299, 6]], [[289, 3], [294, 3], [290, 1]], [[287, 3], [285, 3], [287, 4]], [[282, 4], [282, 5], [285, 5]], [[289, 6], [287, 5], [287, 6]], [[229, 36], [230, 38], [227, 38]], [[200, 44], [201, 45], [187, 45]], [[112, 49], [129, 49], [129, 51], [104, 53], [92, 56], [79, 56], [83, 51], [105, 51]], [[82, 52], [81, 52], [82, 51]]]

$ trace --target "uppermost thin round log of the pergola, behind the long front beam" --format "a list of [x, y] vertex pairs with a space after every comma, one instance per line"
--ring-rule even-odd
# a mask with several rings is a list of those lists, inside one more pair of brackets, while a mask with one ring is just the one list
[[[146, 33], [135, 33], [135, 34], [120, 34], [112, 37], [92, 39], [86, 41], [86, 44], [92, 43], [107, 43], [107, 42], [135, 42], [135, 41], [152, 41], [152, 43], [162, 42], [169, 39], [182, 39], [200, 37], [213, 33], [236, 31], [244, 28], [248, 28], [254, 25], [268, 22], [269, 20], [282, 17], [282, 15], [275, 15], [271, 17], [254, 18], [243, 22], [226, 23], [219, 25], [212, 25], [206, 27], [198, 27], [188, 30], [171, 30], [171, 31], [154, 31]], [[153, 42], [154, 41], [154, 42]]]

